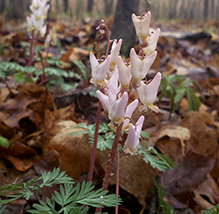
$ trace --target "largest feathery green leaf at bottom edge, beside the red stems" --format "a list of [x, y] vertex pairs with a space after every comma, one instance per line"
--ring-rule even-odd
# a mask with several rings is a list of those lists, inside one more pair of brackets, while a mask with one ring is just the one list
[[[87, 205], [92, 207], [102, 207], [109, 206], [115, 207], [121, 202], [121, 199], [114, 194], [106, 195], [106, 191], [98, 189], [93, 190], [92, 182], [86, 183], [85, 181], [81, 184], [77, 184], [73, 187], [72, 184], [64, 184], [60, 186], [60, 193], [55, 191], [52, 199], [47, 198], [46, 203], [40, 202], [40, 204], [35, 204], [33, 207], [36, 210], [30, 210], [30, 213], [44, 213], [45, 211], [51, 213], [86, 213], [88, 208], [81, 205]], [[56, 210], [55, 205], [60, 206], [59, 210]]]

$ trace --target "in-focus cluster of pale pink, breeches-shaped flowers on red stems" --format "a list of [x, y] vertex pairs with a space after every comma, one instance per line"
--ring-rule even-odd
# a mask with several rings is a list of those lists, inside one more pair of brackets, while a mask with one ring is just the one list
[[[99, 89], [96, 92], [97, 97], [102, 103], [105, 115], [110, 119], [110, 127], [116, 129], [123, 123], [121, 134], [128, 132], [124, 152], [130, 154], [133, 154], [137, 149], [144, 122], [144, 116], [140, 116], [135, 124], [130, 122], [137, 106], [139, 106], [140, 111], [148, 109], [159, 111], [153, 103], [156, 100], [161, 73], [158, 72], [151, 82], [145, 79], [157, 56], [155, 48], [160, 34], [160, 29], [156, 30], [154, 34], [149, 33], [150, 19], [150, 11], [140, 18], [135, 14], [132, 15], [140, 47], [144, 54], [139, 56], [132, 48], [130, 50], [130, 63], [125, 63], [119, 56], [121, 39], [118, 42], [116, 40], [113, 42], [110, 54], [101, 63], [93, 53], [90, 53], [91, 82]], [[137, 97], [129, 103], [129, 96], [134, 90]]]

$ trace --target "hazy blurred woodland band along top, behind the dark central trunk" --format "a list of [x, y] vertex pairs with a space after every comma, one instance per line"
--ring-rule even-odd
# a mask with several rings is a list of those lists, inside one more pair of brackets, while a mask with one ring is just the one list
[[[91, 15], [98, 17], [113, 16], [117, 1], [127, 0], [50, 0], [50, 17], [82, 19]], [[218, 0], [135, 0], [141, 14], [150, 10], [155, 20], [219, 20]], [[31, 0], [1, 0], [0, 14], [8, 20], [22, 19], [30, 13]], [[125, 8], [124, 8], [125, 9]]]

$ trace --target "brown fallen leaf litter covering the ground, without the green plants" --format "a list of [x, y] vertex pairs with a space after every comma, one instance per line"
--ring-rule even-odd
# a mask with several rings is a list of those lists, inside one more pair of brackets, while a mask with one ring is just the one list
[[[52, 48], [50, 54], [68, 63], [61, 68], [68, 73], [78, 72], [81, 79], [66, 76], [64, 81], [76, 81], [76, 88], [64, 91], [53, 86], [54, 90], [50, 88], [48, 92], [47, 88], [34, 83], [18, 84], [11, 76], [13, 73], [6, 73], [5, 79], [13, 94], [4, 83], [0, 83], [0, 135], [9, 141], [8, 148], [0, 146], [1, 185], [10, 184], [17, 177], [28, 180], [39, 175], [40, 170], [52, 171], [54, 167], [60, 167], [75, 181], [86, 180], [92, 148], [89, 137], [69, 133], [83, 130], [71, 129], [78, 123], [95, 123], [98, 100], [91, 95], [94, 89], [88, 82], [88, 50], [93, 46], [95, 24], [86, 23], [77, 29], [69, 28], [67, 22], [58, 25], [58, 37], [65, 53], [60, 54]], [[165, 27], [168, 29], [168, 24]], [[25, 33], [7, 31], [6, 35], [0, 35], [0, 41], [5, 44], [0, 61], [27, 65], [27, 47], [21, 45], [27, 41]], [[75, 47], [71, 47], [72, 43]], [[148, 198], [151, 188], [156, 189], [153, 184], [156, 176], [161, 178], [165, 200], [176, 213], [201, 213], [202, 209], [219, 201], [219, 55], [215, 44], [219, 42], [203, 32], [179, 37], [165, 32], [159, 39], [158, 58], [149, 76], [154, 70], [159, 70], [165, 75], [192, 78], [201, 87], [196, 91], [201, 107], [199, 111], [188, 111], [188, 99], [183, 98], [169, 117], [169, 100], [163, 97], [158, 102], [160, 113], [145, 113], [143, 127], [151, 137], [144, 140], [161, 154], [172, 158], [177, 167], [161, 173], [145, 163], [140, 155], [121, 158], [121, 197], [132, 196], [139, 213], [149, 210], [153, 203]], [[38, 45], [42, 45], [42, 41], [38, 41]], [[10, 51], [11, 48], [14, 51]], [[136, 111], [134, 118], [138, 118], [137, 115]], [[107, 122], [104, 116], [101, 120]], [[93, 180], [97, 186], [101, 185], [108, 153], [108, 149], [97, 151]], [[112, 187], [115, 182], [115, 173], [112, 173]], [[44, 190], [42, 195], [47, 195], [47, 192]], [[25, 203], [19, 199], [7, 209], [16, 212]], [[131, 210], [127, 204], [125, 208]]]

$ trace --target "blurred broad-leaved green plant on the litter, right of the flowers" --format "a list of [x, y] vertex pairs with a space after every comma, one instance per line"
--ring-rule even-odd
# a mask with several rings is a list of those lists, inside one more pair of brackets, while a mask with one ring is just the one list
[[169, 104], [171, 112], [174, 112], [178, 106], [179, 101], [186, 97], [188, 99], [188, 110], [198, 110], [200, 107], [200, 100], [195, 95], [197, 85], [188, 77], [181, 75], [163, 75], [160, 84], [159, 99], [163, 96], [170, 99]]

